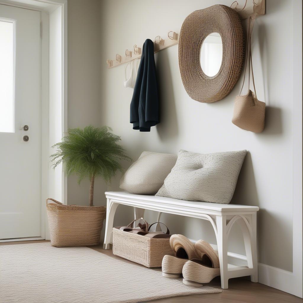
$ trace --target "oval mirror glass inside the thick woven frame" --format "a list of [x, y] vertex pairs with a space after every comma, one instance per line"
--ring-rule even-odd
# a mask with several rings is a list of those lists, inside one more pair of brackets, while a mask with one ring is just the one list
[[200, 64], [202, 71], [208, 77], [215, 76], [222, 62], [222, 39], [219, 33], [211, 33], [202, 43]]

